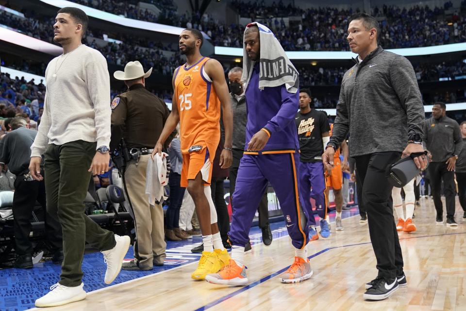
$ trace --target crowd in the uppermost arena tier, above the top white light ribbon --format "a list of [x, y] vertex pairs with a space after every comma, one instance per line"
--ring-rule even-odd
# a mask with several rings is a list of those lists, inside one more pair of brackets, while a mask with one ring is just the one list
[[[106, 1], [75, 0], [107, 12], [121, 14], [111, 7], [128, 7], [126, 2], [119, 6]], [[165, 2], [169, 2], [168, 0]], [[126, 4], [125, 4], [126, 3]], [[97, 4], [97, 5], [96, 5]], [[158, 3], [156, 3], [158, 5]], [[264, 1], [235, 0], [231, 4], [241, 17], [252, 20], [264, 20], [264, 23], [274, 30], [286, 51], [348, 51], [346, 29], [348, 17], [353, 10], [337, 8], [301, 9], [292, 4], [284, 5], [282, 1], [266, 6]], [[380, 19], [380, 43], [384, 48], [408, 48], [448, 44], [466, 41], [466, 26], [464, 14], [455, 12], [452, 18], [447, 18], [445, 11], [452, 7], [451, 1], [445, 2], [443, 8], [429, 6], [414, 6], [409, 10], [399, 6], [383, 5], [375, 7], [372, 14]], [[178, 27], [196, 28], [209, 35], [217, 46], [242, 47], [244, 25], [227, 25], [204, 14], [177, 14], [175, 6], [164, 6], [162, 13], [155, 16], [149, 11], [140, 10], [132, 13], [135, 8], [126, 9], [123, 15], [130, 18], [169, 24]], [[466, 10], [463, 1], [461, 10]], [[137, 10], [136, 10], [137, 11]], [[300, 21], [285, 24], [283, 17], [301, 17]], [[274, 17], [272, 19], [272, 17]], [[277, 17], [281, 17], [281, 20]], [[449, 25], [451, 23], [451, 27]]]

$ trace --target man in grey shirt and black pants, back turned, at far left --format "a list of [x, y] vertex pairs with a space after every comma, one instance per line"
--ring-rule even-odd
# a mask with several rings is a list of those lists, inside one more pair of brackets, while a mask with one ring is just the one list
[[45, 214], [45, 230], [53, 253], [52, 261], [61, 262], [63, 260], [62, 228], [46, 212], [44, 180], [33, 180], [29, 175], [30, 147], [37, 132], [30, 130], [26, 119], [22, 117], [14, 118], [10, 126], [12, 132], [1, 140], [0, 165], [9, 165], [11, 173], [16, 175], [13, 217], [16, 242], [15, 250], [18, 258], [14, 263], [14, 267], [21, 269], [33, 267], [33, 245], [29, 241], [29, 234], [32, 228], [31, 214], [36, 201], [42, 206]]

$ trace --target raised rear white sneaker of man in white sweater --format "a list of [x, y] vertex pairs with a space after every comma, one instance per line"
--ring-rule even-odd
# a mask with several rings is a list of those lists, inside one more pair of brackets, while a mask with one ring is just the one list
[[105, 284], [112, 283], [116, 276], [120, 273], [121, 264], [125, 258], [128, 248], [130, 248], [130, 237], [125, 235], [120, 237], [115, 235], [116, 245], [108, 251], [102, 251], [103, 258], [107, 264], [107, 271], [105, 271]]

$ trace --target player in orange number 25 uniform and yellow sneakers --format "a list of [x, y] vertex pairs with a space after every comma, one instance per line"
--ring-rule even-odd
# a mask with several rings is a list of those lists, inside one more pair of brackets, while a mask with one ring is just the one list
[[225, 126], [220, 166], [228, 168], [233, 160], [233, 113], [223, 67], [215, 59], [200, 54], [202, 43], [202, 34], [196, 29], [185, 29], [180, 35], [179, 47], [186, 55], [186, 64], [173, 74], [171, 113], [152, 152], [152, 157], [162, 152], [165, 140], [180, 122], [183, 154], [180, 184], [194, 200], [204, 244], [199, 266], [191, 275], [195, 280], [218, 272], [230, 260], [218, 231], [210, 192], [212, 163], [220, 141], [220, 104]]

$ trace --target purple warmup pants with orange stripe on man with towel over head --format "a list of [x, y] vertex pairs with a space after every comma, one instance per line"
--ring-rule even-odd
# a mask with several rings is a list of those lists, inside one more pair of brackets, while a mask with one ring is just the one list
[[252, 219], [268, 182], [280, 202], [293, 246], [302, 249], [307, 245], [309, 227], [300, 204], [297, 177], [299, 158], [298, 153], [243, 155], [233, 193], [233, 219], [228, 233], [233, 245], [244, 247], [249, 241]]

